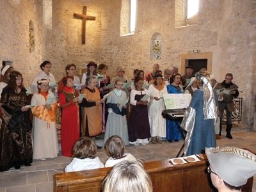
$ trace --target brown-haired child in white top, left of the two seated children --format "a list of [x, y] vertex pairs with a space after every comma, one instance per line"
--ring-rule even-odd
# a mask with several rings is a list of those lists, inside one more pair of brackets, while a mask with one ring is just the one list
[[88, 137], [81, 137], [72, 148], [74, 159], [65, 168], [65, 172], [77, 172], [103, 168], [99, 157], [96, 157], [97, 147]]

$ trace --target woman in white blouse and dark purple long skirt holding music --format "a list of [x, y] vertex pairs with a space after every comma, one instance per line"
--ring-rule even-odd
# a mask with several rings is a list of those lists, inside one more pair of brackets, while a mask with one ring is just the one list
[[134, 78], [135, 89], [131, 90], [130, 102], [132, 111], [129, 118], [128, 133], [129, 143], [138, 146], [139, 143], [146, 145], [150, 135], [150, 127], [148, 122], [148, 102], [150, 98], [141, 100], [147, 95], [148, 90], [143, 89], [143, 79], [140, 76]]

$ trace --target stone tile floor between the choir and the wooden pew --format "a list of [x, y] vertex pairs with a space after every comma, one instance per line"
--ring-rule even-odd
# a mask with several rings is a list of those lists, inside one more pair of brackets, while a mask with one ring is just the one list
[[[237, 132], [233, 133], [233, 140], [228, 140], [222, 136], [221, 140], [217, 140], [217, 145], [222, 147], [235, 146], [240, 148], [248, 148], [256, 152], [256, 132]], [[182, 146], [179, 142], [163, 142], [163, 144], [141, 145], [138, 147], [127, 146], [126, 151], [134, 157], [142, 161], [156, 161], [158, 159], [173, 158], [179, 152]], [[100, 149], [98, 156], [102, 163], [108, 159], [103, 149]], [[8, 172], [0, 173], [0, 192], [41, 192], [52, 191], [52, 175], [54, 173], [63, 172], [63, 168], [72, 160], [71, 157], [58, 156], [54, 159], [46, 159], [45, 161], [33, 161], [32, 166], [22, 166], [20, 170], [11, 169]], [[256, 179], [253, 182], [253, 191], [256, 192]]]

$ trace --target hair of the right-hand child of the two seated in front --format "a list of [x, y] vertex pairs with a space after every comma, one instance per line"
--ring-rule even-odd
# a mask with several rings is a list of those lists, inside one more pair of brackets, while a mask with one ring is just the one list
[[116, 159], [124, 155], [124, 147], [125, 143], [122, 138], [120, 138], [120, 136], [114, 135], [108, 138], [104, 148], [108, 150], [111, 157]]

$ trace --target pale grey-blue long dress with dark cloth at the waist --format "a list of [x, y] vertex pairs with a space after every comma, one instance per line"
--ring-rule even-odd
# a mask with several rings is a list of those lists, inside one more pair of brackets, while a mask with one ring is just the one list
[[127, 109], [124, 107], [117, 107], [121, 100], [126, 100], [126, 93], [122, 91], [121, 95], [116, 95], [115, 91], [109, 93], [107, 100], [107, 108], [109, 111], [106, 131], [104, 136], [104, 143], [113, 135], [118, 135], [124, 140], [125, 145], [129, 145], [128, 129], [126, 122]]

